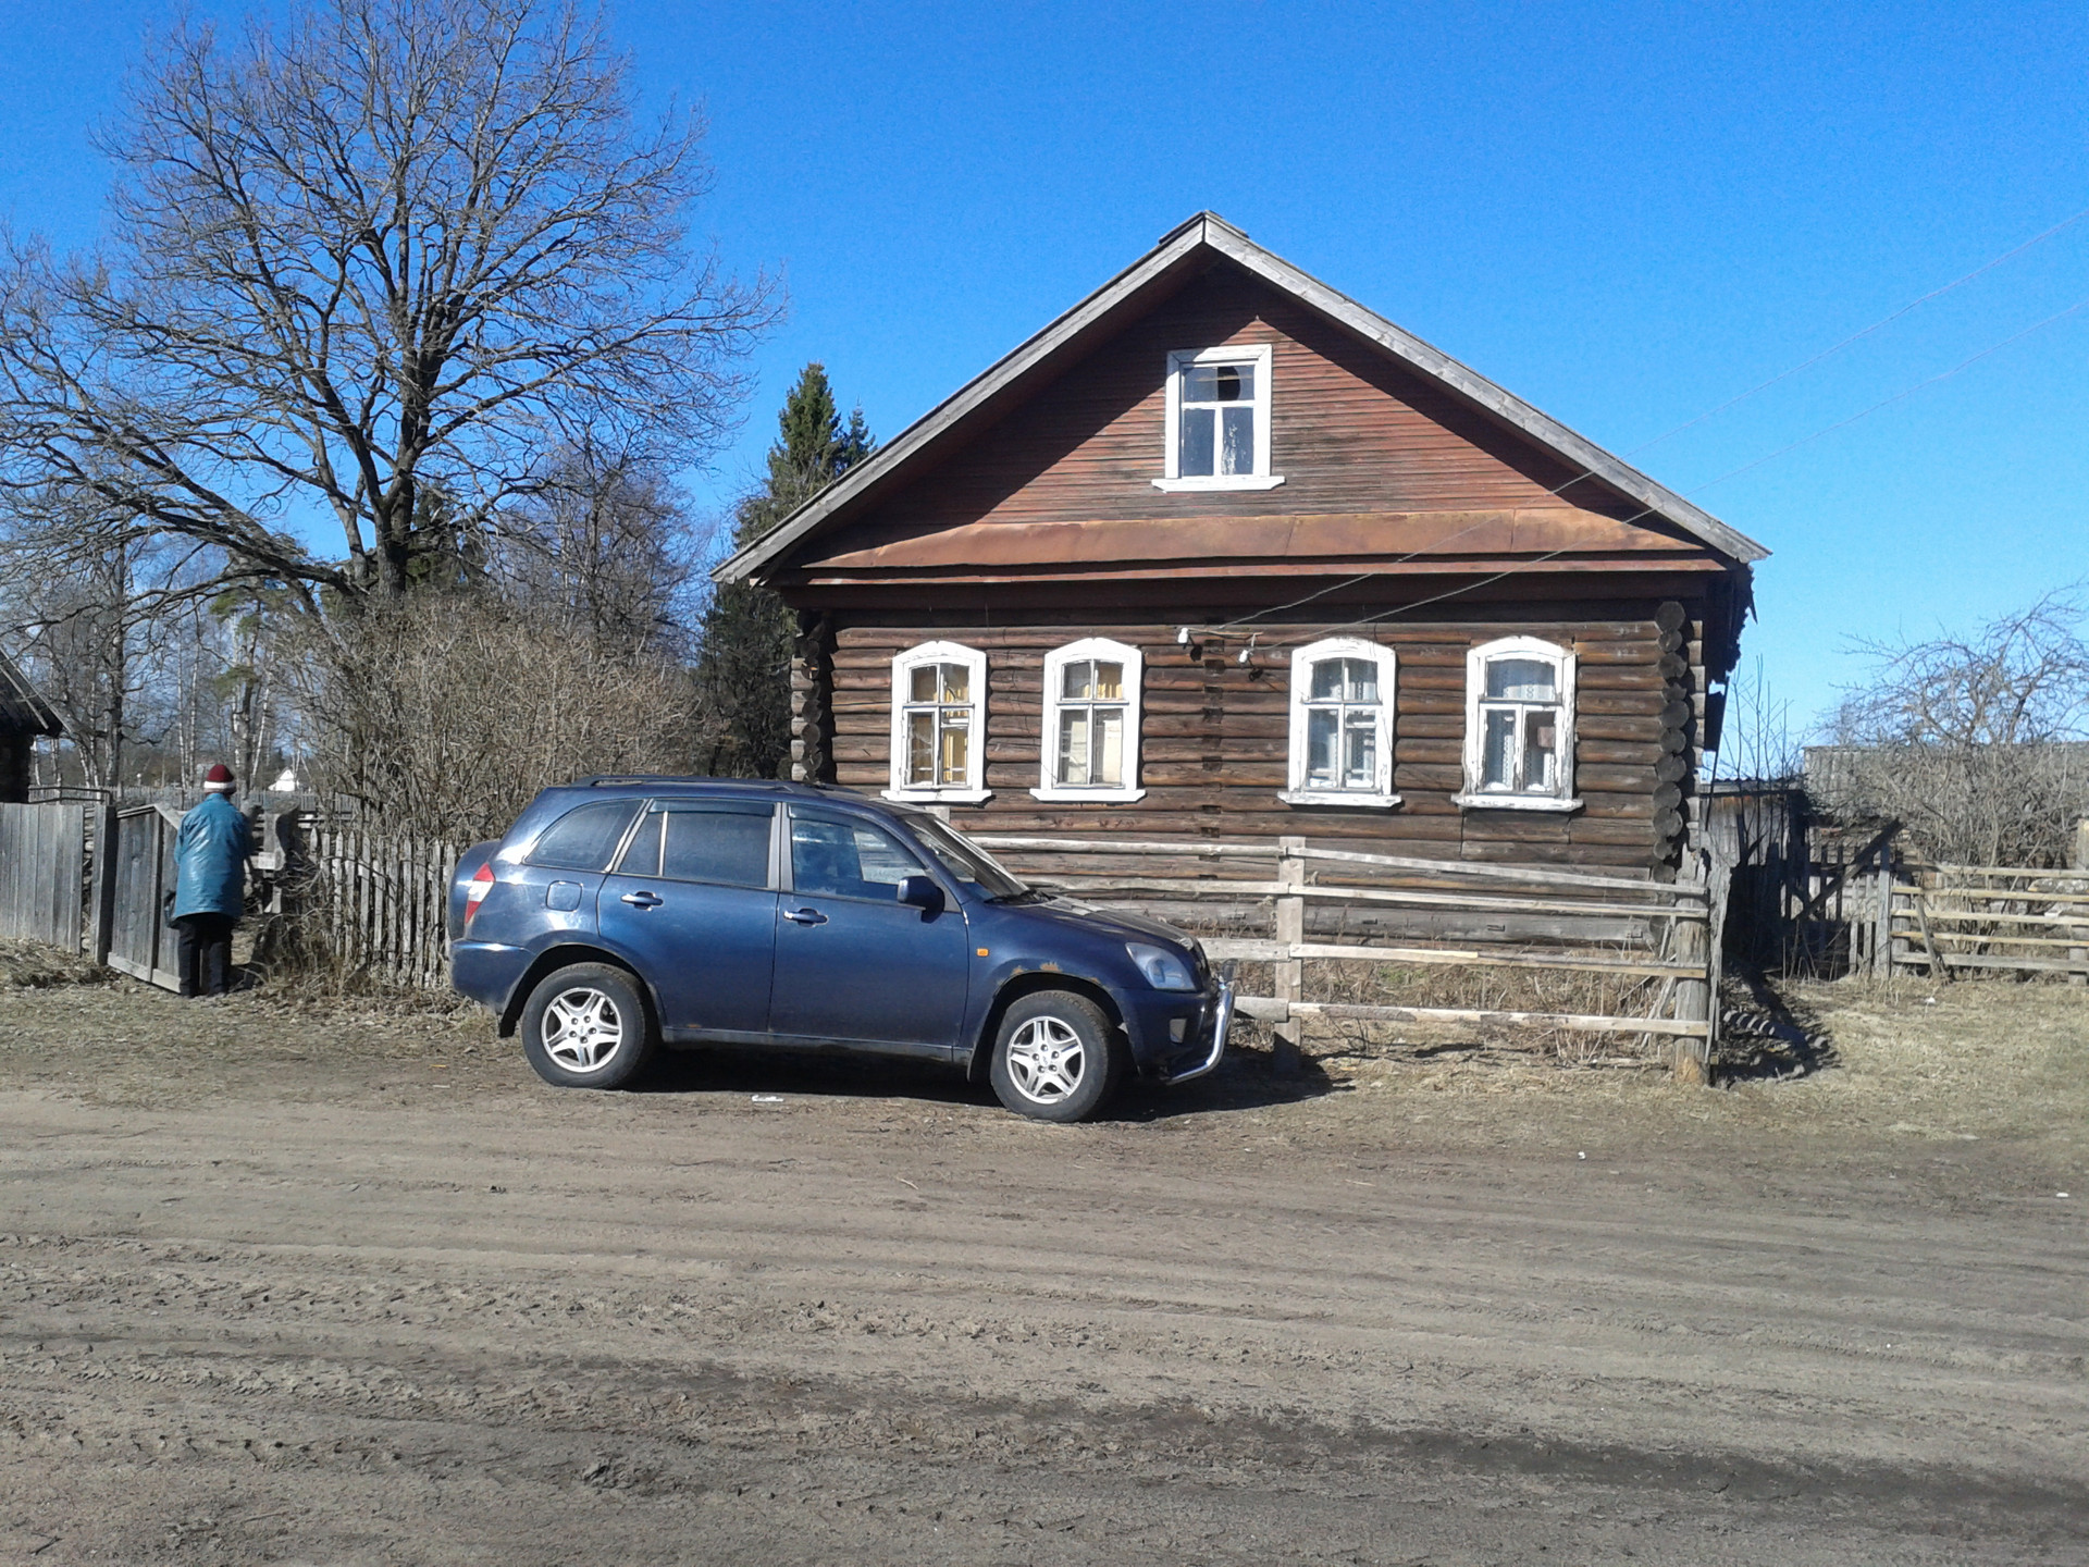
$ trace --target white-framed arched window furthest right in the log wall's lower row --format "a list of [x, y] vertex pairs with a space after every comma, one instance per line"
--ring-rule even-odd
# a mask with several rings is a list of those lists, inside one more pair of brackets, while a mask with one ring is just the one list
[[1502, 637], [1464, 662], [1462, 806], [1573, 811], [1573, 673], [1565, 648]]

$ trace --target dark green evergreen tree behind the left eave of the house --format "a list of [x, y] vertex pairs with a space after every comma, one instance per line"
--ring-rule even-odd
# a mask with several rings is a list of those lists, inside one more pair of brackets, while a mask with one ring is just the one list
[[[827, 368], [808, 364], [777, 414], [769, 478], [740, 501], [733, 547], [760, 539], [827, 485], [871, 455], [875, 441], [854, 410], [842, 422]], [[790, 777], [792, 614], [754, 583], [719, 587], [704, 614], [700, 698], [721, 725], [704, 771], [721, 777]]]

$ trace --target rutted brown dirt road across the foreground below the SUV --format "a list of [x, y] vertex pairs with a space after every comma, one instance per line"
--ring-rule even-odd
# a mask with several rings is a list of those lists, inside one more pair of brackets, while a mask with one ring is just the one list
[[1044, 1128], [0, 992], [0, 1561], [2089, 1561], [2081, 1128], [1868, 1051]]

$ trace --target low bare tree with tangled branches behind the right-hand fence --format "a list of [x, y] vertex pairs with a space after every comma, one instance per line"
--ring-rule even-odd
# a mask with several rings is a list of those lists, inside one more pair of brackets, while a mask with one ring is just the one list
[[1930, 859], [2066, 863], [2089, 813], [2085, 614], [2068, 587], [1972, 637], [1861, 644], [1868, 679], [1809, 786], [1836, 815], [1903, 823]]

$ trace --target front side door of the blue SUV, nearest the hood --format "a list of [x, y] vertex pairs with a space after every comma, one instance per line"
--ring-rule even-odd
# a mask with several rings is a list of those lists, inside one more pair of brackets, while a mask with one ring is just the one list
[[902, 875], [948, 880], [871, 821], [796, 804], [788, 871], [769, 999], [777, 1040], [948, 1055], [971, 972], [965, 913], [955, 898], [934, 911], [898, 901]]

